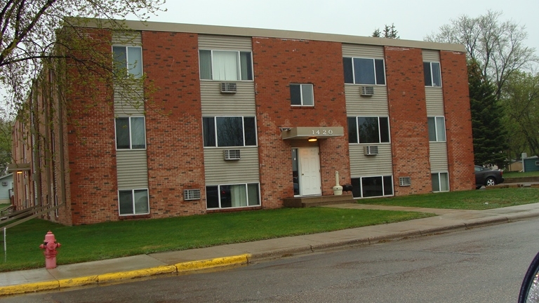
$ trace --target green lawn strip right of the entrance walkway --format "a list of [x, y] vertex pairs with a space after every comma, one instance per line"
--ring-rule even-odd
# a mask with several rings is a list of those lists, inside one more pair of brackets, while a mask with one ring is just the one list
[[469, 210], [503, 208], [538, 202], [539, 189], [530, 187], [451, 191], [435, 194], [397, 196], [390, 198], [366, 198], [358, 200], [358, 203], [362, 204]]

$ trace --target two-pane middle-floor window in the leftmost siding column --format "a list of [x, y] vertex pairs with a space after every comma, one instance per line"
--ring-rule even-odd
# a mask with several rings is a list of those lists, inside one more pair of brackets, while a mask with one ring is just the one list
[[116, 119], [116, 149], [145, 149], [146, 128], [144, 117]]

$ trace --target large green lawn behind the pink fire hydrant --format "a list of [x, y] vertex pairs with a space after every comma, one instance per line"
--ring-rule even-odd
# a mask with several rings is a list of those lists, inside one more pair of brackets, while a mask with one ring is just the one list
[[[0, 271], [44, 267], [39, 245], [50, 229], [62, 247], [58, 264], [203, 248], [429, 217], [432, 214], [338, 208], [281, 208], [66, 227], [30, 220], [7, 230]], [[3, 243], [2, 243], [3, 244]], [[3, 255], [3, 254], [1, 254]]]

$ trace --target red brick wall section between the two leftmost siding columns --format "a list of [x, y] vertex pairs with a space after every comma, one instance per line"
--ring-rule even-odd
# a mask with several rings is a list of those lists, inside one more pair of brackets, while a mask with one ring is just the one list
[[[150, 213], [206, 213], [198, 36], [142, 32], [142, 45], [157, 89], [146, 107]], [[201, 200], [183, 201], [183, 189], [201, 189]]]

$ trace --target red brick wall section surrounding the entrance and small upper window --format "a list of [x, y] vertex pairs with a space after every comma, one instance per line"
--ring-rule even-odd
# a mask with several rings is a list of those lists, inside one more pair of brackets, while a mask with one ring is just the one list
[[[263, 208], [293, 196], [291, 142], [279, 127], [341, 126], [347, 133], [340, 43], [253, 38], [260, 184]], [[314, 107], [291, 107], [290, 83], [312, 83]], [[350, 183], [346, 137], [319, 140], [322, 194], [333, 194], [335, 170]]]

